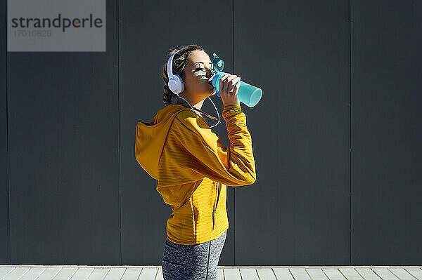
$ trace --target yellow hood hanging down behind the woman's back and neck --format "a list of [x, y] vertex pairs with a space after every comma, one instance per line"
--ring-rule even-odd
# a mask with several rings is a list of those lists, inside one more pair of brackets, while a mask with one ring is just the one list
[[157, 112], [151, 124], [139, 121], [136, 124], [135, 158], [143, 169], [158, 180], [158, 164], [167, 133], [179, 112], [190, 110], [184, 105], [167, 105]]

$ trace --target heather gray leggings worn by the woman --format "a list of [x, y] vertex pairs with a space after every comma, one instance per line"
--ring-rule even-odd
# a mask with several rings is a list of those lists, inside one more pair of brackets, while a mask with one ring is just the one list
[[227, 230], [216, 239], [196, 245], [176, 244], [167, 239], [162, 255], [165, 280], [217, 280], [217, 265]]

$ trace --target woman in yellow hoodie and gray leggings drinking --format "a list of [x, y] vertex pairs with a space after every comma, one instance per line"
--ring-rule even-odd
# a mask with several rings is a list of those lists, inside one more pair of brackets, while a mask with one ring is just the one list
[[[168, 86], [172, 54], [172, 74], [184, 84], [179, 95]], [[157, 191], [172, 206], [162, 255], [164, 279], [217, 279], [229, 229], [226, 185], [256, 180], [252, 138], [237, 97], [240, 77], [226, 74], [219, 84], [230, 147], [222, 145], [204, 119], [209, 115], [200, 110], [205, 98], [215, 94], [211, 67], [200, 46], [172, 51], [162, 68], [165, 107], [151, 124], [139, 121], [136, 126], [136, 160], [158, 180]]]

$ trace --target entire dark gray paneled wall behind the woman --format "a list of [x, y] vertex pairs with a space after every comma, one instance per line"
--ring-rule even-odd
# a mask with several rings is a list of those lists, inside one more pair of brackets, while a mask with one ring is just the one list
[[171, 208], [135, 127], [165, 53], [199, 44], [263, 90], [219, 265], [420, 265], [421, 5], [198, 3], [107, 1], [106, 53], [6, 53], [1, 21], [1, 263], [160, 265]]

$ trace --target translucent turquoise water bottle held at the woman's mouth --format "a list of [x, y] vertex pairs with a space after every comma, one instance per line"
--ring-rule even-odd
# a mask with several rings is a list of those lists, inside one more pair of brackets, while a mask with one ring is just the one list
[[[212, 86], [215, 87], [215, 93], [218, 97], [221, 97], [221, 95], [219, 95], [219, 80], [225, 74], [228, 73], [216, 71], [211, 81]], [[241, 86], [239, 86], [238, 89], [238, 100], [248, 107], [254, 107], [257, 105], [262, 98], [262, 89], [245, 83], [244, 81], [238, 81], [238, 83], [241, 83]]]

